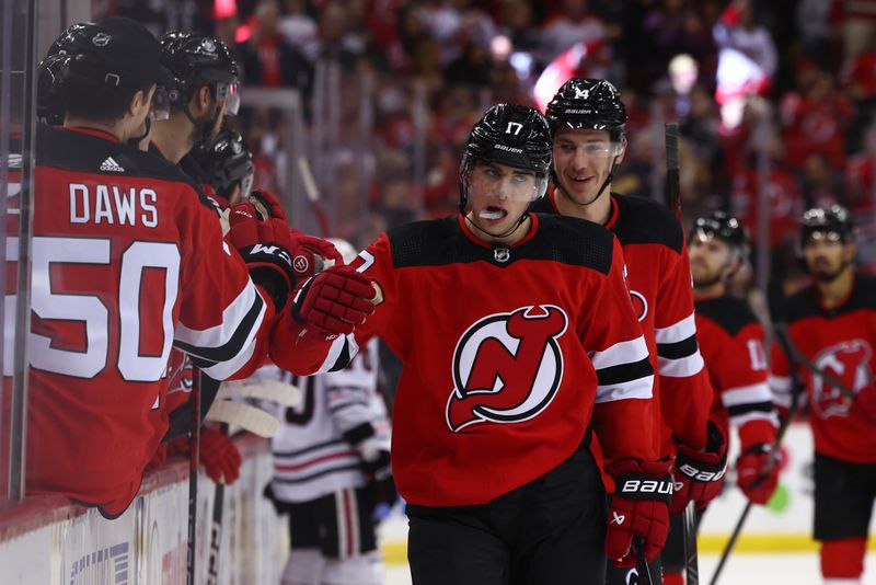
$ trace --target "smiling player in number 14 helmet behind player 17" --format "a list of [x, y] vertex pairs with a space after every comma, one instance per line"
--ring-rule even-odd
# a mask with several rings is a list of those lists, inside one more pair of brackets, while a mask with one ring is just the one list
[[[626, 107], [608, 81], [575, 78], [548, 104], [546, 117], [553, 134], [554, 188], [532, 209], [583, 218], [607, 227], [618, 238], [626, 260], [630, 297], [656, 371], [655, 397], [660, 408], [653, 411], [655, 449], [661, 458], [678, 450], [691, 469], [714, 469], [711, 477], [719, 480], [726, 446], [715, 436], [708, 445], [713, 449], [704, 452], [712, 388], [696, 345], [683, 230], [662, 205], [611, 192], [626, 149]], [[703, 504], [721, 487], [719, 481], [701, 482], [683, 473], [676, 473], [675, 480], [676, 512], [690, 500]], [[610, 573], [612, 582], [625, 583], [626, 572], [610, 569]]]

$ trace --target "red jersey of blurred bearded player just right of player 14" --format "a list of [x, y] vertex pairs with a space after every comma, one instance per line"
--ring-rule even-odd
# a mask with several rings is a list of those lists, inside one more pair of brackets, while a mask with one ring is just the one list
[[696, 340], [715, 398], [712, 420], [729, 436], [730, 423], [742, 448], [772, 443], [779, 426], [763, 349], [763, 325], [748, 305], [729, 295], [698, 300]]

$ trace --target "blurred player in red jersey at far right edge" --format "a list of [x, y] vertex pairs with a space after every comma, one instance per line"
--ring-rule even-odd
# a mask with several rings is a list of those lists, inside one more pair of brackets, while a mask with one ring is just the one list
[[[845, 387], [799, 368], [815, 438], [815, 539], [825, 583], [860, 584], [876, 497], [876, 279], [855, 269], [852, 221], [839, 205], [804, 214], [800, 246], [814, 284], [784, 303], [788, 332], [816, 368]], [[788, 359], [777, 346], [771, 355], [770, 386], [787, 408]]]

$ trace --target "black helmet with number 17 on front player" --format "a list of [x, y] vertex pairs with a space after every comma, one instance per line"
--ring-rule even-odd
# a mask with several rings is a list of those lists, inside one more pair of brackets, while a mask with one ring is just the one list
[[492, 106], [472, 127], [465, 145], [459, 168], [460, 209], [464, 213], [468, 205], [466, 177], [479, 160], [533, 171], [533, 199], [542, 197], [548, 190], [551, 153], [551, 129], [538, 110], [506, 103]]

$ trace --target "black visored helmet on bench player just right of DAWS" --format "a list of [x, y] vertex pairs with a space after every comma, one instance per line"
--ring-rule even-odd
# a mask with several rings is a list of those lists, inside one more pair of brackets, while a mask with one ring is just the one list
[[193, 31], [171, 31], [159, 42], [161, 62], [175, 78], [169, 88], [171, 105], [184, 107], [195, 91], [209, 85], [228, 114], [238, 113], [238, 64], [224, 43]]

